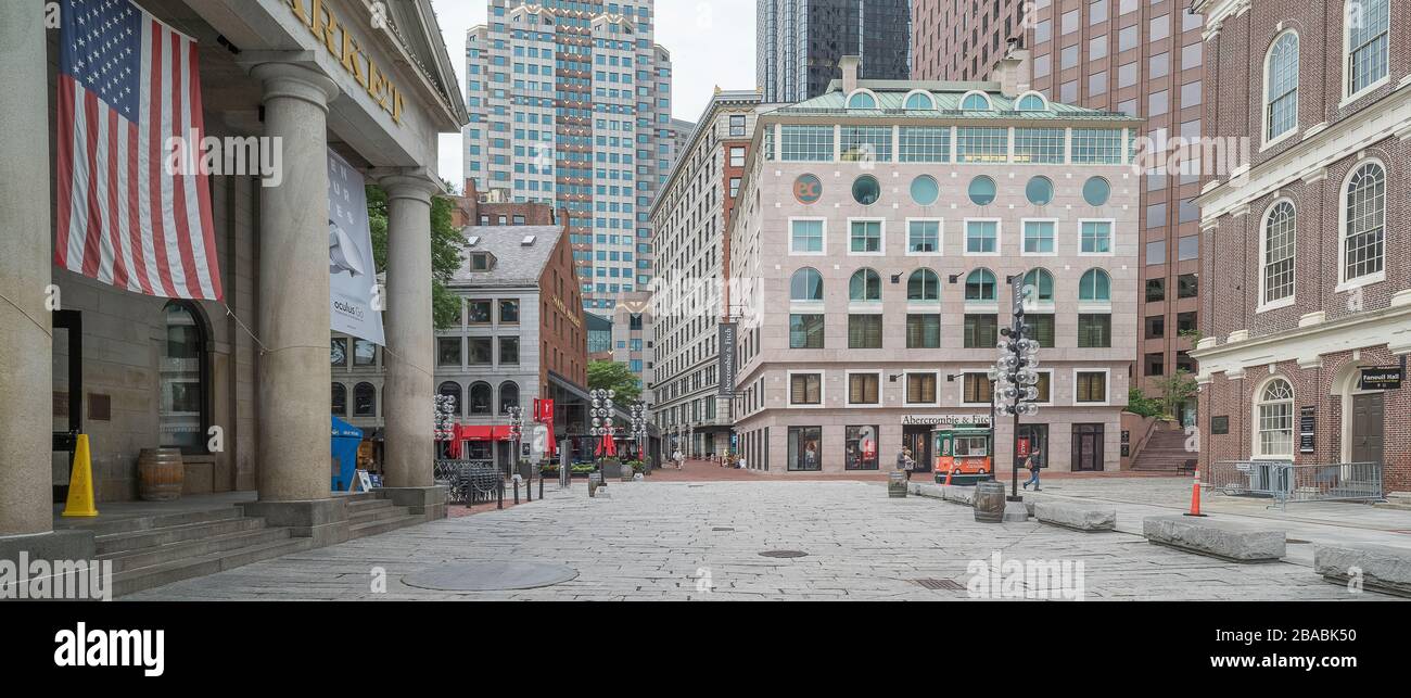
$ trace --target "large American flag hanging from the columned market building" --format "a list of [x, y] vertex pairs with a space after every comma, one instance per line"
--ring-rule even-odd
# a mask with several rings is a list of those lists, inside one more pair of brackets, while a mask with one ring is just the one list
[[205, 135], [196, 42], [128, 0], [65, 0], [61, 18], [55, 264], [220, 300], [207, 178], [166, 162], [168, 138]]

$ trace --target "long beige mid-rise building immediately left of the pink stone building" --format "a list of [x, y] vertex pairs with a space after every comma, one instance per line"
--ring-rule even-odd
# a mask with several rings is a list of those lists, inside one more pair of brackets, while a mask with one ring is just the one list
[[715, 92], [652, 207], [658, 283], [648, 375], [667, 450], [704, 455], [729, 444], [731, 400], [721, 395], [728, 376], [718, 367], [720, 324], [732, 314], [725, 230], [763, 110], [758, 90]]

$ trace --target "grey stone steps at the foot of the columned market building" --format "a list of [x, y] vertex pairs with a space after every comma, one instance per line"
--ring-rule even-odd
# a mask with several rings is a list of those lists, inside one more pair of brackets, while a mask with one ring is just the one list
[[[377, 492], [347, 498], [349, 540], [426, 522]], [[315, 547], [291, 529], [270, 527], [238, 506], [100, 522], [93, 533], [97, 560], [113, 563], [113, 596], [205, 577]]]

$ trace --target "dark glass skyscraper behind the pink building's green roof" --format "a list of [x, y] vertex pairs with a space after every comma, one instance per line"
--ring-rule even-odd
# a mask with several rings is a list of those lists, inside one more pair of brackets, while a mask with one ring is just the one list
[[842, 78], [842, 56], [862, 78], [912, 75], [913, 0], [759, 0], [755, 72], [765, 102], [803, 102]]

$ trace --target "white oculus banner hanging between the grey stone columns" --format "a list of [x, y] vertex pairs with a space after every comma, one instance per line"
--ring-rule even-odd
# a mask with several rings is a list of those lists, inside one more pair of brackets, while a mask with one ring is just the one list
[[332, 329], [387, 345], [363, 175], [329, 149], [329, 293]]

